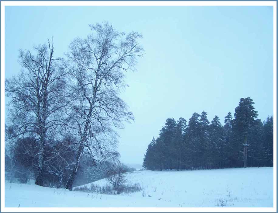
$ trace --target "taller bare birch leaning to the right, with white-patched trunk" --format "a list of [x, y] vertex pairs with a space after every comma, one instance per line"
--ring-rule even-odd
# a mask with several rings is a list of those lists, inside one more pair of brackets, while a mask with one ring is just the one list
[[90, 27], [92, 33], [86, 39], [74, 39], [67, 53], [73, 91], [76, 92], [72, 118], [79, 138], [75, 164], [66, 184], [69, 190], [85, 151], [101, 157], [104, 150], [107, 155], [113, 153], [105, 149], [108, 146], [99, 135], [115, 134], [114, 127], [123, 128], [123, 121], [134, 119], [119, 93], [127, 86], [123, 80], [124, 72], [133, 69], [136, 58], [143, 54], [138, 43], [141, 34], [119, 33], [107, 22]]

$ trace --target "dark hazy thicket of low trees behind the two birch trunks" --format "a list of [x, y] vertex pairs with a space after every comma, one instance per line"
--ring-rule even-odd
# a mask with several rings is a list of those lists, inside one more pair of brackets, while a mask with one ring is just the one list
[[[46, 142], [44, 152], [44, 186], [63, 188], [71, 173], [72, 165], [67, 162], [74, 161], [75, 150], [72, 147], [77, 141], [70, 135], [64, 137], [61, 141]], [[55, 143], [55, 146], [51, 146], [53, 143]], [[30, 180], [34, 179], [39, 161], [38, 155], [36, 155], [38, 149], [36, 138], [18, 138], [14, 146], [9, 150], [9, 155], [5, 153], [5, 180], [29, 183]], [[56, 157], [57, 152], [59, 152], [59, 158]], [[84, 153], [81, 158], [73, 187], [105, 178], [109, 169], [115, 166], [115, 161], [112, 161], [112, 159], [100, 162], [87, 157], [86, 154]], [[135, 168], [130, 168], [123, 164], [122, 166], [126, 172], [136, 171]]]

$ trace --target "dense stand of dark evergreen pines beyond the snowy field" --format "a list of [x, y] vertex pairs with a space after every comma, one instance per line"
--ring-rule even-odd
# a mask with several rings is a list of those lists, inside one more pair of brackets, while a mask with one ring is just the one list
[[241, 98], [234, 118], [229, 112], [225, 125], [215, 115], [193, 113], [187, 120], [167, 118], [159, 137], [153, 138], [143, 167], [162, 169], [219, 169], [273, 166], [273, 117], [257, 119], [253, 100]]

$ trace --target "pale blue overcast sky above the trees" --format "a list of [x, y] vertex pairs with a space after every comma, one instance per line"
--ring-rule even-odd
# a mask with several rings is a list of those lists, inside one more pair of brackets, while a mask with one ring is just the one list
[[147, 145], [166, 118], [187, 121], [194, 112], [211, 121], [250, 96], [265, 120], [273, 115], [273, 9], [242, 7], [5, 7], [5, 77], [20, 71], [18, 50], [54, 36], [63, 57], [88, 24], [107, 20], [119, 31], [138, 31], [145, 49], [128, 72], [122, 98], [135, 122], [119, 130], [122, 162], [142, 164]]

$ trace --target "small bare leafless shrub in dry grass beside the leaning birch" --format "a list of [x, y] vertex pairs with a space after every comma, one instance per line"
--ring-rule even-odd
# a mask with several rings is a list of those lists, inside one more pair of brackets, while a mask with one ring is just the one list
[[114, 190], [118, 190], [119, 187], [126, 182], [125, 173], [126, 167], [118, 162], [110, 166], [106, 172], [106, 180], [112, 184]]

